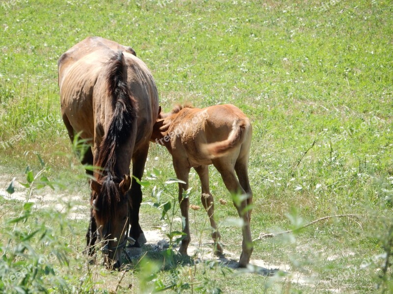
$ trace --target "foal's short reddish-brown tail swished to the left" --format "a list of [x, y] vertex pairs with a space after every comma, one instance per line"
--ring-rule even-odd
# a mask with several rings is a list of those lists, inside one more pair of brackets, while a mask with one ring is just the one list
[[243, 143], [249, 123], [246, 120], [236, 120], [233, 122], [232, 131], [228, 139], [220, 142], [206, 144], [203, 147], [204, 153], [210, 158], [221, 157], [232, 151], [233, 148]]

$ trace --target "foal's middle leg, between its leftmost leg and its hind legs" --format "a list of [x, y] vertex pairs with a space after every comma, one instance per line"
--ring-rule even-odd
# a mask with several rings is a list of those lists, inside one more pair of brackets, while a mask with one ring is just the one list
[[200, 183], [202, 186], [202, 195], [200, 200], [202, 201], [202, 205], [205, 208], [207, 215], [209, 217], [210, 225], [213, 229], [212, 238], [214, 242], [214, 254], [220, 255], [223, 254], [223, 248], [220, 245], [221, 235], [217, 229], [216, 222], [214, 221], [214, 200], [213, 196], [210, 193], [209, 188], [209, 167], [208, 166], [199, 166], [194, 168], [199, 176]]

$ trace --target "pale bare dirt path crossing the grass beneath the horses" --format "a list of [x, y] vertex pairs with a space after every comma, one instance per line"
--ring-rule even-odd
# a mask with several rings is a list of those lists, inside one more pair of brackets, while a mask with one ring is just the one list
[[[22, 176], [21, 176], [22, 178]], [[15, 200], [26, 202], [28, 196], [28, 189], [23, 187], [18, 179], [14, 182], [15, 192], [8, 194], [6, 189], [11, 182], [12, 177], [9, 175], [0, 176], [0, 196], [6, 200]], [[49, 187], [45, 187], [40, 190], [35, 190], [34, 193], [28, 199], [28, 202], [35, 203], [36, 209], [43, 208], [54, 208], [59, 212], [67, 211], [67, 207], [72, 203], [71, 208], [68, 211], [67, 219], [69, 220], [88, 220], [89, 208], [88, 203], [84, 200], [86, 197], [83, 194], [72, 193], [66, 195], [64, 193], [58, 193], [53, 191]], [[181, 221], [180, 218], [175, 218], [175, 221]], [[161, 230], [145, 230], [145, 238], [147, 240], [146, 246], [152, 248], [152, 250], [159, 252], [168, 247], [168, 241], [163, 231]], [[192, 240], [198, 240], [197, 236], [191, 236]], [[224, 255], [221, 257], [215, 256], [212, 252], [213, 243], [208, 240], [202, 240], [199, 242], [191, 242], [188, 247], [189, 256], [196, 256], [198, 261], [216, 260], [225, 267], [231, 269], [238, 268], [239, 256], [225, 250]], [[127, 249], [130, 255], [142, 254], [141, 249]], [[143, 252], [144, 253], [144, 252]], [[331, 258], [335, 258], [332, 256]], [[263, 276], [274, 275], [277, 271], [281, 270], [286, 273], [285, 278], [293, 283], [315, 286], [316, 279], [313, 276], [307, 276], [301, 272], [291, 271], [291, 266], [287, 264], [270, 264], [264, 260], [252, 259], [250, 266], [244, 271], [261, 274]]]

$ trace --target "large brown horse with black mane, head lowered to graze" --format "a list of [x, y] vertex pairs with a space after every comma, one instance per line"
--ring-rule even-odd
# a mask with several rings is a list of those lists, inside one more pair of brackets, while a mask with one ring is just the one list
[[61, 55], [58, 84], [71, 142], [79, 134], [91, 145], [82, 159], [94, 166], [93, 172], [86, 171], [93, 175], [87, 251], [94, 253], [98, 233], [105, 264], [119, 268], [130, 222], [135, 245], [144, 239], [139, 225], [142, 192], [130, 177], [130, 164], [132, 160], [132, 174], [140, 179], [158, 114], [157, 88], [131, 47], [100, 37], [86, 38]]

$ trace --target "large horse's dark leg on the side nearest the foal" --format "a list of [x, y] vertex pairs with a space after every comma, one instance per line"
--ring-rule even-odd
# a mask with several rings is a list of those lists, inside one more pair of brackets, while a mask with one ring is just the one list
[[[136, 151], [132, 157], [132, 175], [139, 180], [143, 175], [148, 150], [149, 145], [147, 144], [145, 147]], [[140, 184], [137, 183], [134, 177], [132, 178], [131, 189], [128, 191], [127, 195], [131, 197], [132, 200], [131, 230], [129, 236], [136, 240], [132, 247], [140, 247], [141, 244], [146, 243], [146, 238], [144, 237], [139, 224], [139, 209], [140, 203], [142, 202], [142, 190], [140, 189]]]

